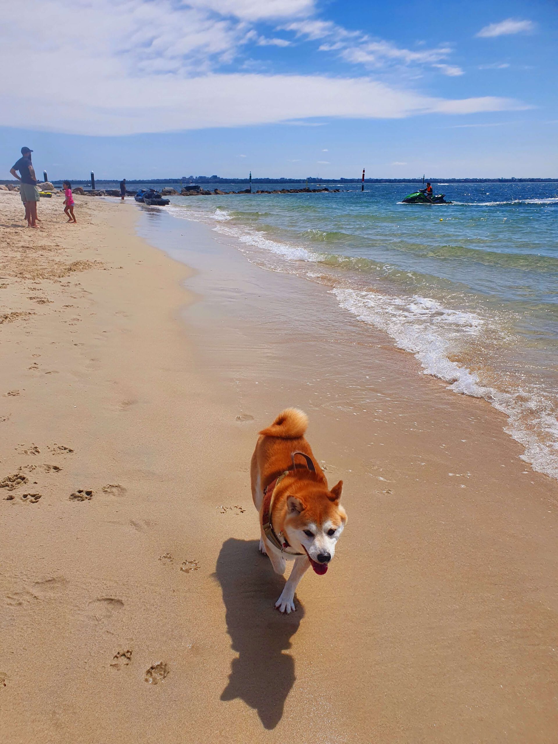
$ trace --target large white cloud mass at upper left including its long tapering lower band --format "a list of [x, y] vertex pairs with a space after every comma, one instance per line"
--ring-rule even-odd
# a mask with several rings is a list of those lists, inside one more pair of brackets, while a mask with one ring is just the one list
[[[10, 111], [4, 123], [126, 135], [525, 108], [501, 97], [446, 100], [370, 77], [222, 74], [219, 65], [233, 60], [247, 39], [254, 41], [254, 29], [212, 16], [225, 0], [204, 4], [209, 11], [194, 0], [26, 0], [25, 12], [4, 4], [0, 44], [6, 59], [18, 60], [17, 75], [0, 76], [0, 97]], [[274, 12], [288, 5], [278, 0]], [[292, 0], [289, 7], [295, 6], [310, 7]], [[234, 7], [245, 16], [256, 12], [248, 0], [235, 0]], [[75, 85], [68, 86], [68, 69]]]

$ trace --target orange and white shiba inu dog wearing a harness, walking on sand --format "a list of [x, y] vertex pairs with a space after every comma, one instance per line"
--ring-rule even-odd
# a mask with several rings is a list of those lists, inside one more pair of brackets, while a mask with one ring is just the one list
[[321, 467], [304, 438], [308, 417], [286, 408], [260, 432], [251, 459], [254, 506], [260, 513], [260, 552], [276, 574], [284, 574], [286, 559], [294, 559], [289, 579], [275, 607], [295, 609], [295, 591], [307, 568], [326, 573], [347, 523], [339, 503], [343, 481], [327, 487]]

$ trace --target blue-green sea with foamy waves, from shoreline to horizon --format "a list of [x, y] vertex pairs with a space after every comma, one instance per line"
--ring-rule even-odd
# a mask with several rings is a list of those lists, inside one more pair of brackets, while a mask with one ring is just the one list
[[440, 185], [454, 204], [434, 206], [400, 203], [412, 184], [328, 187], [344, 190], [175, 196], [169, 211], [326, 284], [424, 373], [504, 412], [525, 460], [558, 478], [558, 184]]

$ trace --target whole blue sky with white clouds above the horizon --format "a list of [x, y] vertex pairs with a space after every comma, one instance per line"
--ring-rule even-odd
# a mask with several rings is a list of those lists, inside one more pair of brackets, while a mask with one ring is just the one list
[[22, 0], [2, 21], [4, 177], [23, 144], [54, 179], [558, 176], [555, 1]]

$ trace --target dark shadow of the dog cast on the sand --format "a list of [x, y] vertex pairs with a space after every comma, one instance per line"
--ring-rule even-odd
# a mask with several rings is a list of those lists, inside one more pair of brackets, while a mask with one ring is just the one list
[[273, 572], [269, 558], [258, 552], [257, 540], [226, 540], [215, 577], [222, 589], [231, 648], [231, 662], [222, 700], [240, 698], [255, 708], [265, 728], [275, 728], [295, 684], [295, 660], [283, 653], [304, 618], [304, 608], [282, 615], [275, 602], [285, 580]]

